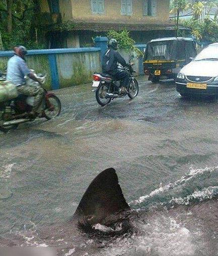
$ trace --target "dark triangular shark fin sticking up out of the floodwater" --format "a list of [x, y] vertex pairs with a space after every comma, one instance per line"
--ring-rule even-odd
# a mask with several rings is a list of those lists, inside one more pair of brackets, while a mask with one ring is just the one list
[[79, 224], [105, 224], [106, 219], [129, 210], [113, 168], [101, 172], [89, 185], [73, 217]]

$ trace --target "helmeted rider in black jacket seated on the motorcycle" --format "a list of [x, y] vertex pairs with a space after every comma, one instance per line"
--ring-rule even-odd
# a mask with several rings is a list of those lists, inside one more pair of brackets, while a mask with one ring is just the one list
[[129, 73], [126, 70], [118, 69], [118, 64], [121, 64], [123, 67], [128, 67], [129, 64], [117, 52], [117, 45], [117, 40], [109, 40], [108, 50], [103, 58], [102, 71], [111, 75], [114, 79], [120, 80], [120, 85], [125, 91], [129, 86]]

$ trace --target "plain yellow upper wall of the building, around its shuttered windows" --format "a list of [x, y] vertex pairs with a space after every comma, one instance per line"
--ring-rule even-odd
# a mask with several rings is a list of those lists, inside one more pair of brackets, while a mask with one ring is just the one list
[[[65, 2], [66, 0], [59, 0], [61, 10], [66, 9]], [[99, 15], [92, 13], [90, 0], [71, 0], [72, 18], [90, 22], [138, 24], [167, 21], [169, 19], [169, 0], [158, 0], [157, 6], [156, 17], [143, 16], [143, 0], [132, 0], [132, 16], [122, 16], [120, 0], [105, 0], [105, 13]]]

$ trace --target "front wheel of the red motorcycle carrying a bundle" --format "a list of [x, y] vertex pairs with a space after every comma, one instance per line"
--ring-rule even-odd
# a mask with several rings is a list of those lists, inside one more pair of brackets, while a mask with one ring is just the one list
[[47, 120], [53, 119], [60, 115], [61, 103], [57, 96], [51, 95], [46, 99], [45, 102], [44, 117]]

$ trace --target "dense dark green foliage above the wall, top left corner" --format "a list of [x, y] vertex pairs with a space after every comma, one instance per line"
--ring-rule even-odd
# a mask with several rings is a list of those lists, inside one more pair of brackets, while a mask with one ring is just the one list
[[[34, 16], [39, 10], [38, 0], [1, 0], [0, 31], [5, 49], [22, 44], [27, 48], [41, 48], [34, 27]], [[1, 43], [1, 42], [0, 42]]]

